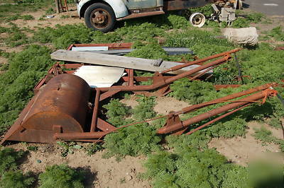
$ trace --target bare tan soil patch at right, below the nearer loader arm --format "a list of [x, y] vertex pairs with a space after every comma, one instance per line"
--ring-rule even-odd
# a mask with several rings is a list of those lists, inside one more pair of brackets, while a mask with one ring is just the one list
[[[209, 148], [216, 148], [219, 153], [225, 155], [231, 162], [246, 166], [249, 161], [258, 158], [276, 158], [284, 162], [284, 154], [280, 151], [278, 145], [274, 143], [263, 144], [254, 138], [254, 128], [260, 128], [262, 124], [258, 122], [249, 122], [248, 131], [244, 137], [235, 137], [233, 139], [212, 139]], [[278, 139], [283, 138], [282, 129], [275, 129], [268, 124], [263, 124], [266, 129], [272, 131], [273, 136]]]

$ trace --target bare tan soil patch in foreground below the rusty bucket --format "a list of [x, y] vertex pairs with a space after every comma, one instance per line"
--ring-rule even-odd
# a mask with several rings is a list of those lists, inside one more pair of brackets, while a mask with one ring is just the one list
[[[30, 151], [21, 165], [24, 172], [32, 171], [39, 174], [47, 165], [67, 164], [72, 168], [87, 172], [87, 187], [151, 187], [147, 181], [138, 178], [144, 172], [143, 160], [145, 157], [133, 158], [127, 156], [120, 162], [116, 158], [102, 158], [104, 151], [88, 156], [84, 149], [77, 149], [73, 154], [62, 158], [60, 148], [53, 144], [30, 143], [29, 146], [38, 146], [38, 151]], [[87, 146], [87, 143], [80, 144]], [[26, 150], [25, 143], [16, 143], [11, 148]], [[38, 160], [41, 163], [38, 163]]]

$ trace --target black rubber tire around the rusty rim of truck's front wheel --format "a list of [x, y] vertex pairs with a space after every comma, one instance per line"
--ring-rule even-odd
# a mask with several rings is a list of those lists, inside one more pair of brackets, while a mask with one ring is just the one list
[[[104, 9], [107, 13], [109, 13], [109, 23], [107, 23], [105, 28], [97, 28], [96, 25], [94, 25], [94, 22], [91, 18], [93, 11], [96, 9]], [[84, 12], [84, 23], [86, 23], [88, 28], [91, 28], [93, 30], [99, 30], [102, 31], [102, 33], [107, 33], [111, 31], [114, 28], [114, 25], [116, 24], [116, 16], [114, 14], [114, 10], [107, 4], [102, 3], [95, 3], [92, 4], [87, 8], [87, 10]]]

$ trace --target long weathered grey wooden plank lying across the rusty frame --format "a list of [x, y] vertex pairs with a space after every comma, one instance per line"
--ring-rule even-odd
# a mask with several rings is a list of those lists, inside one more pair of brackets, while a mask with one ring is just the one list
[[[60, 61], [71, 61], [71, 62], [79, 62], [84, 64], [97, 64], [104, 66], [116, 66], [116, 67], [123, 67], [123, 68], [143, 70], [143, 71], [152, 71], [152, 72], [163, 71], [173, 66], [182, 64], [172, 61], [163, 61], [160, 64], [160, 66], [154, 66], [155, 64], [157, 64], [158, 60], [116, 56], [111, 54], [97, 54], [93, 52], [75, 52], [63, 49], [53, 52], [53, 54], [51, 54], [51, 58]], [[198, 66], [199, 65], [192, 65], [180, 69], [178, 71], [173, 71], [169, 73], [180, 74], [185, 71], [195, 69]]]

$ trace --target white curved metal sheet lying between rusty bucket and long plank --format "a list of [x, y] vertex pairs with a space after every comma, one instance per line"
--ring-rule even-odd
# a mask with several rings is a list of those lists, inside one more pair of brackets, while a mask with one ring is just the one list
[[111, 66], [81, 66], [74, 73], [86, 81], [91, 88], [111, 87], [124, 76], [124, 68]]

